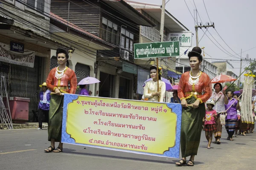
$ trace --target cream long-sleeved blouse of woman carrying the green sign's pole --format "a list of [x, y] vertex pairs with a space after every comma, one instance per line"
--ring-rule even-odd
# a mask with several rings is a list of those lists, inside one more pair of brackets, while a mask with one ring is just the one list
[[[160, 94], [160, 102], [163, 102], [163, 97], [166, 91], [165, 82], [159, 80], [159, 92]], [[153, 79], [145, 83], [144, 87], [144, 97], [148, 98], [148, 101], [158, 102], [158, 96], [152, 96], [152, 93], [157, 92], [157, 82], [154, 82]]]

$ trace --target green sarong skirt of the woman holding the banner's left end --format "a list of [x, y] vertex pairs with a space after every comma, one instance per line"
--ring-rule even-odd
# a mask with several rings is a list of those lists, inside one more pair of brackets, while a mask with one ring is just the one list
[[64, 96], [52, 94], [49, 109], [48, 141], [61, 142], [62, 114]]

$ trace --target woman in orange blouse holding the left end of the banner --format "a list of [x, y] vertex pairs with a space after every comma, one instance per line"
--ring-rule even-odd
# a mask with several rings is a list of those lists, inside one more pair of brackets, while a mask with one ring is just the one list
[[[56, 56], [59, 66], [50, 71], [46, 80], [47, 88], [55, 94], [52, 94], [49, 109], [48, 141], [51, 141], [51, 146], [44, 150], [45, 152], [62, 152], [61, 127], [64, 96], [61, 93], [75, 94], [77, 86], [75, 72], [66, 66], [67, 49], [58, 48]], [[70, 88], [68, 88], [68, 83], [70, 83]], [[55, 142], [59, 142], [56, 149]]]

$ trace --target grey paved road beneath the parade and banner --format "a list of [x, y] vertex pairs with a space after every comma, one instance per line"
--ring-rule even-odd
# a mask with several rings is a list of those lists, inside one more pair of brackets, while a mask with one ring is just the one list
[[[0, 170], [255, 170], [256, 132], [212, 144], [204, 131], [194, 167], [175, 167], [177, 159], [64, 144], [63, 153], [44, 153], [47, 130], [0, 130]], [[56, 167], [56, 168], [55, 168]]]

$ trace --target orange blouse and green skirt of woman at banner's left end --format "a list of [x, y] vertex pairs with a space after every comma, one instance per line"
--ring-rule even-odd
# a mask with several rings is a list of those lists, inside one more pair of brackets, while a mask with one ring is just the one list
[[[70, 89], [68, 88], [70, 83]], [[57, 67], [53, 68], [46, 80], [47, 88], [55, 91], [58, 88], [61, 93], [76, 93], [77, 79], [73, 70], [66, 67], [64, 71], [57, 71]], [[48, 125], [48, 141], [55, 139], [55, 142], [61, 142], [61, 127], [64, 96], [52, 94], [49, 109], [49, 125]]]

